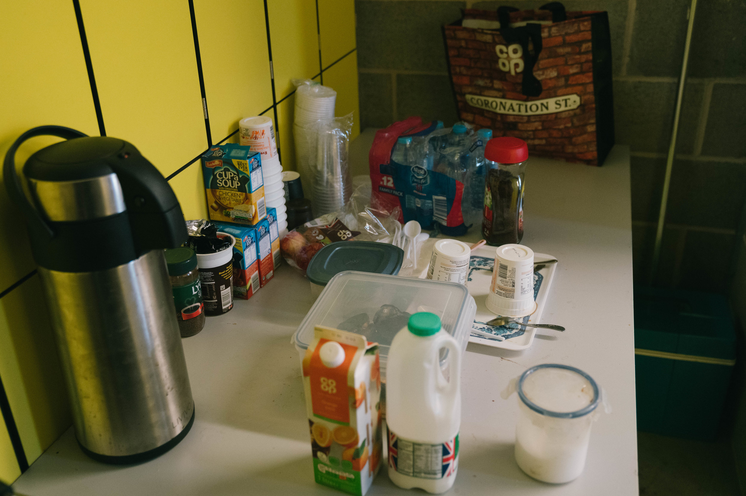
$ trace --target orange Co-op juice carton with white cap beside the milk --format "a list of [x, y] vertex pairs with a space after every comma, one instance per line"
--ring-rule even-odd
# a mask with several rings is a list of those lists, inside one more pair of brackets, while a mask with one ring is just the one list
[[377, 343], [316, 326], [303, 359], [303, 387], [316, 482], [365, 495], [383, 446]]

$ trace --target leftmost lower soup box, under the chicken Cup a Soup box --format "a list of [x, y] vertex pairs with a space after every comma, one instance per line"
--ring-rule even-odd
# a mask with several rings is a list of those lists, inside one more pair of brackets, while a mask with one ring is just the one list
[[248, 300], [259, 291], [259, 260], [257, 259], [257, 232], [251, 227], [216, 222], [222, 233], [236, 238], [233, 245], [233, 298]]

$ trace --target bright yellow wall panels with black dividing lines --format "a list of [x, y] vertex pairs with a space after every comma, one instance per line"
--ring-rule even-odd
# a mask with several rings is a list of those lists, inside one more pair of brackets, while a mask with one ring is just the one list
[[[275, 119], [283, 168], [295, 169], [292, 78], [333, 87], [336, 113], [354, 112], [357, 135], [354, 1], [266, 5], [263, 0], [1, 2], [0, 158], [19, 134], [37, 125], [126, 139], [169, 178], [184, 215], [194, 219], [204, 216], [205, 204], [200, 164], [192, 160], [211, 143], [235, 141], [242, 117]], [[16, 155], [19, 169], [54, 141], [27, 142]], [[5, 482], [15, 480], [71, 422], [22, 219], [0, 184], [0, 480]], [[22, 448], [13, 448], [14, 439]]]

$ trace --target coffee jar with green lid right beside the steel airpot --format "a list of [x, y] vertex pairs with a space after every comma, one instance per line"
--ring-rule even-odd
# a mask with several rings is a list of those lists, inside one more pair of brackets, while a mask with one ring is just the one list
[[186, 247], [165, 250], [181, 337], [194, 336], [204, 327], [204, 303], [197, 254]]

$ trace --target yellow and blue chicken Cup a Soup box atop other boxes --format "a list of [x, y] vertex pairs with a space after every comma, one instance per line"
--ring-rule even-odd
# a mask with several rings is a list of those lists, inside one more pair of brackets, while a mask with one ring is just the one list
[[201, 159], [210, 220], [256, 225], [266, 217], [258, 151], [232, 143], [213, 145]]

